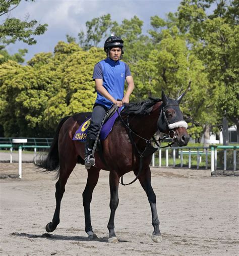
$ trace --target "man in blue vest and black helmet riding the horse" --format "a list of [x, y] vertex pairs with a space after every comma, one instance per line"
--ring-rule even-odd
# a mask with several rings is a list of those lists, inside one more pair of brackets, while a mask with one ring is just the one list
[[[93, 80], [95, 81], [97, 98], [85, 144], [86, 169], [95, 165], [95, 159], [91, 152], [106, 111], [113, 104], [122, 107], [124, 103], [129, 103], [129, 96], [135, 87], [129, 66], [120, 61], [124, 54], [123, 47], [124, 41], [121, 37], [110, 35], [104, 43], [107, 59], [98, 62], [94, 67]], [[124, 95], [125, 80], [128, 88]]]

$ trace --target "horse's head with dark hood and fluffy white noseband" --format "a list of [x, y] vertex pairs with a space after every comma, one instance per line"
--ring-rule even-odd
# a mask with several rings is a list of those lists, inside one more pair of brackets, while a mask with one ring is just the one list
[[188, 124], [184, 121], [183, 114], [180, 110], [179, 104], [185, 93], [180, 95], [177, 99], [167, 98], [164, 91], [162, 91], [162, 105], [157, 122], [157, 127], [160, 132], [168, 134], [173, 142], [178, 146], [186, 146], [189, 142], [189, 135], [187, 132]]

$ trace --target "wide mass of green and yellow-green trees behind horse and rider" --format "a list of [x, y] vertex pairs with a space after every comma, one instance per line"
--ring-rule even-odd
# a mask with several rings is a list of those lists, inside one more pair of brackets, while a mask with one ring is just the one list
[[67, 35], [68, 43], [58, 42], [53, 53], [39, 53], [27, 66], [15, 62], [20, 57], [3, 64], [5, 136], [50, 136], [64, 116], [92, 110], [93, 67], [105, 58], [95, 46], [102, 46], [109, 32], [124, 39], [124, 61], [136, 85], [132, 101], [160, 97], [162, 89], [173, 98], [186, 91], [181, 108], [194, 138], [208, 127], [216, 131], [225, 117], [237, 124], [238, 1], [183, 0], [166, 19], [151, 17], [148, 34], [142, 26], [136, 16], [118, 24], [103, 15], [86, 23], [78, 43]]

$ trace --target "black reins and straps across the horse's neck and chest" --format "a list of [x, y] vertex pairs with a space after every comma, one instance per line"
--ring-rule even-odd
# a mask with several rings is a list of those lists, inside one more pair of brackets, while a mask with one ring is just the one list
[[[164, 111], [163, 111], [163, 112], [164, 112]], [[138, 135], [136, 132], [134, 132], [134, 131], [130, 128], [129, 116], [127, 116], [127, 124], [126, 124], [126, 122], [125, 122], [124, 119], [122, 118], [121, 113], [118, 111], [118, 109], [117, 109], [117, 113], [118, 113], [118, 116], [120, 116], [121, 121], [123, 122], [123, 124], [125, 125], [125, 127], [129, 130], [129, 137], [130, 137], [131, 143], [132, 143], [132, 144], [134, 145], [134, 147], [136, 148], [136, 150], [137, 150], [137, 152], [138, 152], [138, 154], [139, 154], [139, 157], [140, 157], [139, 171], [138, 171], [138, 174], [137, 174], [136, 178], [135, 178], [133, 181], [131, 181], [130, 183], [125, 184], [125, 183], [123, 182], [123, 175], [121, 176], [121, 182], [120, 182], [120, 183], [121, 183], [123, 186], [126, 186], [126, 185], [131, 185], [132, 183], [134, 183], [134, 182], [139, 178], [139, 176], [141, 175], [141, 171], [142, 171], [142, 167], [143, 167], [143, 158], [146, 157], [146, 156], [152, 155], [152, 154], [158, 149], [158, 148], [153, 147], [153, 146], [151, 145], [151, 141], [154, 141], [155, 144], [157, 145], [157, 147], [159, 147], [159, 148], [164, 148], [164, 147], [168, 147], [168, 146], [171, 147], [171, 145], [174, 144], [174, 142], [171, 142], [170, 144], [168, 143], [167, 146], [163, 146], [163, 147], [161, 147], [161, 146], [158, 144], [158, 142], [160, 143], [160, 141], [162, 141], [162, 140], [164, 140], [164, 139], [170, 137], [169, 134], [166, 135], [166, 136], [164, 136], [163, 138], [159, 138], [158, 140], [156, 140], [156, 139], [154, 138], [154, 136], [152, 137], [152, 138], [153, 138], [152, 140], [150, 140], [150, 139], [145, 139], [145, 138], [141, 137], [140, 135]], [[160, 116], [161, 116], [161, 114], [162, 114], [162, 110], [161, 110]], [[165, 115], [165, 113], [164, 113], [164, 115]], [[159, 116], [159, 117], [160, 117], [160, 116]], [[170, 132], [170, 131], [169, 131], [169, 132]], [[174, 131], [173, 131], [173, 132], [174, 132]], [[133, 139], [133, 137], [132, 137], [132, 133], [133, 133], [134, 135], [136, 135], [137, 137], [139, 137], [139, 138], [141, 138], [141, 139], [143, 139], [143, 140], [146, 141], [146, 146], [145, 146], [145, 149], [144, 149], [143, 152], [140, 152], [139, 148], [137, 147], [137, 145], [136, 145], [136, 143], [135, 143], [135, 141], [134, 141], [134, 139]], [[173, 138], [174, 138], [174, 137], [175, 137], [175, 132], [174, 132]], [[157, 142], [157, 141], [158, 141], [158, 142]]]

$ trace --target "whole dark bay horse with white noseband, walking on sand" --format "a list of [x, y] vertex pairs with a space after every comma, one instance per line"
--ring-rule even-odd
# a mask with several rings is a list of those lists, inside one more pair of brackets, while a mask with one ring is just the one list
[[[96, 151], [95, 166], [88, 171], [88, 179], [83, 192], [83, 206], [85, 212], [85, 231], [89, 238], [97, 237], [91, 226], [90, 202], [93, 190], [99, 178], [101, 169], [109, 171], [110, 185], [110, 217], [108, 222], [109, 242], [117, 242], [114, 232], [114, 215], [118, 206], [118, 185], [120, 177], [134, 171], [137, 176], [140, 168], [140, 155], [157, 130], [165, 134], [173, 134], [173, 140], [179, 146], [187, 145], [189, 135], [187, 123], [183, 120], [179, 104], [184, 94], [177, 99], [167, 98], [162, 92], [162, 100], [150, 99], [138, 104], [125, 106], [122, 119], [116, 119], [115, 124], [105, 140], [101, 141], [102, 153]], [[46, 231], [52, 232], [59, 224], [61, 200], [65, 192], [65, 185], [77, 163], [84, 164], [84, 143], [73, 141], [73, 136], [79, 126], [91, 113], [76, 114], [65, 117], [59, 124], [48, 155], [36, 162], [40, 168], [47, 171], [58, 170], [58, 180], [55, 184], [56, 208], [52, 222], [46, 225]], [[129, 124], [134, 133], [123, 123]], [[133, 142], [132, 142], [133, 138]], [[136, 148], [138, 150], [136, 150]], [[154, 228], [152, 240], [159, 242], [161, 233], [156, 209], [156, 196], [151, 186], [150, 162], [152, 154], [143, 158], [141, 172], [138, 177], [145, 190], [152, 212], [152, 225]]]

